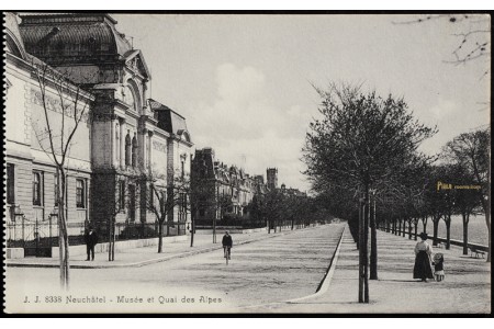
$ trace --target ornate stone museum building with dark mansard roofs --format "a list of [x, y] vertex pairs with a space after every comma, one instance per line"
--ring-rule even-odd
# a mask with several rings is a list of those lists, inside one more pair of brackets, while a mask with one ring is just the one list
[[[35, 64], [48, 65], [75, 88], [81, 87], [82, 103], [89, 106], [68, 161], [74, 175], [69, 189], [71, 184], [75, 189], [77, 179], [86, 182], [86, 215], [68, 216], [69, 220], [93, 222], [102, 230], [113, 217], [117, 223], [154, 223], [155, 216], [146, 209], [154, 173], [166, 174], [164, 190], [180, 171], [189, 173], [193, 144], [186, 120], [148, 99], [151, 77], [144, 56], [115, 25], [115, 20], [101, 13], [7, 13], [7, 162], [14, 168], [9, 178], [14, 203], [22, 204], [26, 216], [46, 218], [54, 184], [53, 164], [29, 135], [34, 118], [43, 113], [42, 94], [32, 75]], [[45, 104], [53, 115], [65, 112], [70, 118], [78, 113], [74, 106], [63, 111], [54, 91]], [[43, 172], [46, 195], [45, 208], [37, 213], [31, 201], [31, 175], [36, 170]], [[76, 192], [67, 195], [75, 198]], [[169, 214], [170, 222], [180, 220], [173, 229], [180, 227], [182, 234], [189, 217], [178, 208]]]

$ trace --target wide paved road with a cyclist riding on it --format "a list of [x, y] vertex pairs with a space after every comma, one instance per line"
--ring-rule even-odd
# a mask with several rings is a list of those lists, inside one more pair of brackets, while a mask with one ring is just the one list
[[[238, 311], [313, 294], [344, 226], [234, 246], [228, 265], [217, 250], [135, 269], [74, 269], [71, 290], [63, 294], [55, 293], [57, 269], [9, 268], [5, 287], [9, 296], [19, 296], [12, 307], [20, 307], [27, 296], [24, 306], [30, 310], [54, 309], [46, 299], [52, 294], [61, 296], [55, 302], [57, 311], [68, 310], [67, 305], [71, 311]], [[42, 303], [34, 303], [36, 296]], [[67, 304], [67, 296], [76, 303]]]

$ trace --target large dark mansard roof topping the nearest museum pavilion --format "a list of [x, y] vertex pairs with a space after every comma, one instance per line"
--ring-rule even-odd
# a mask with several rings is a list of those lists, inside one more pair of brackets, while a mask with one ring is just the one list
[[21, 35], [27, 53], [50, 64], [115, 60], [132, 50], [116, 21], [103, 13], [21, 15]]

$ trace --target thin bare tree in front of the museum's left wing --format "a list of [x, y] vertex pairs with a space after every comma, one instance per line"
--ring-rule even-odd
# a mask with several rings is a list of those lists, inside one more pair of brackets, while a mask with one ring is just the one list
[[[32, 122], [34, 134], [42, 150], [56, 168], [58, 204], [58, 245], [60, 259], [60, 286], [69, 288], [69, 242], [67, 232], [66, 186], [68, 158], [74, 136], [81, 122], [89, 117], [89, 101], [80, 86], [42, 61], [32, 63], [40, 93], [44, 120]], [[53, 95], [52, 95], [53, 94]], [[59, 115], [53, 115], [56, 112]]]

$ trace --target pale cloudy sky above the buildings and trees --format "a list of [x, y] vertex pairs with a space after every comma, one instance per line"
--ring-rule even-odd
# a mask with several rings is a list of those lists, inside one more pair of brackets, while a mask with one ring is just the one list
[[[300, 160], [305, 133], [318, 117], [311, 83], [363, 82], [404, 97], [417, 118], [439, 133], [424, 144], [437, 152], [456, 135], [485, 125], [490, 58], [445, 63], [478, 29], [476, 19], [393, 24], [416, 15], [113, 14], [151, 70], [151, 97], [187, 118], [195, 148], [308, 190]], [[485, 24], [483, 25], [485, 27]]]

